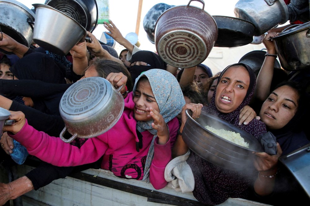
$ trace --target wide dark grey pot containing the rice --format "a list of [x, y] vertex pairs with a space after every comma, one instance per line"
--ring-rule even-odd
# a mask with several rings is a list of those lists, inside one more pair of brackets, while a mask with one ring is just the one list
[[[188, 148], [203, 159], [230, 170], [243, 170], [254, 166], [255, 155], [252, 152], [263, 152], [262, 145], [255, 137], [206, 112], [201, 111], [200, 118], [195, 120], [188, 112], [190, 111], [186, 110], [188, 118], [182, 132], [182, 138]], [[207, 125], [215, 129], [240, 133], [241, 137], [249, 143], [249, 148], [241, 147], [215, 135], [205, 128]]]

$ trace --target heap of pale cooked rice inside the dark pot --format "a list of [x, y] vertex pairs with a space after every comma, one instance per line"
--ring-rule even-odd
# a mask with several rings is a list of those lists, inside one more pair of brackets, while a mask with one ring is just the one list
[[240, 133], [236, 133], [233, 131], [227, 131], [224, 129], [214, 129], [213, 127], [209, 127], [208, 125], [205, 127], [210, 132], [213, 132], [214, 134], [222, 137], [223, 139], [226, 139], [230, 142], [233, 142], [235, 144], [238, 144], [242, 147], [249, 148], [249, 144], [244, 141], [244, 139], [240, 136]]

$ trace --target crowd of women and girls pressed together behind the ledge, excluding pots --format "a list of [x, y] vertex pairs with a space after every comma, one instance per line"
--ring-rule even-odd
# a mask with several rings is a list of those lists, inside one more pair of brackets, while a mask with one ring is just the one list
[[[191, 180], [179, 184], [180, 190], [193, 192], [204, 204], [221, 204], [228, 198], [272, 205], [294, 204], [297, 198], [310, 202], [278, 160], [309, 144], [310, 135], [307, 84], [294, 81], [300, 76], [289, 79], [284, 70], [287, 75], [282, 79], [273, 75], [277, 50], [270, 37], [278, 35], [276, 30], [263, 39], [268, 55], [256, 74], [248, 65], [236, 63], [214, 75], [204, 64], [186, 69], [167, 65], [154, 52], [132, 45], [111, 20], [104, 26], [124, 46], [119, 55], [90, 32], [91, 42], [78, 43], [66, 56], [28, 48], [2, 32], [0, 107], [11, 111], [9, 119], [15, 124], [3, 128], [1, 164], [16, 164], [10, 157], [14, 139], [40, 165], [21, 178], [0, 183], [0, 205], [89, 168], [150, 182], [157, 190], [171, 181]], [[152, 38], [152, 33], [148, 35]], [[59, 113], [61, 97], [79, 79], [90, 77], [105, 78], [115, 88], [126, 85], [120, 90], [125, 103], [122, 116], [104, 134], [65, 143], [58, 138], [65, 126]], [[281, 83], [272, 85], [274, 79]], [[253, 152], [253, 167], [246, 171], [213, 164], [182, 138], [186, 109], [193, 119], [201, 112], [215, 115], [258, 141], [268, 137], [273, 146]], [[176, 158], [183, 161], [174, 165]], [[167, 171], [171, 164], [175, 170]], [[188, 172], [179, 172], [182, 168]], [[171, 175], [176, 178], [171, 180]]]

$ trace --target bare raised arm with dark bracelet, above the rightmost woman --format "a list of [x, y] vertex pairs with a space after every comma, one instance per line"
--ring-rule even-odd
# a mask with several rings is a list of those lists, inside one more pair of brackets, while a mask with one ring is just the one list
[[[267, 54], [277, 54], [276, 48], [271, 37], [278, 36], [277, 32], [268, 33], [263, 39], [263, 44], [266, 46]], [[274, 71], [275, 56], [266, 56], [262, 68], [259, 71], [256, 79], [255, 94], [260, 101], [265, 101], [270, 94], [270, 86]]]

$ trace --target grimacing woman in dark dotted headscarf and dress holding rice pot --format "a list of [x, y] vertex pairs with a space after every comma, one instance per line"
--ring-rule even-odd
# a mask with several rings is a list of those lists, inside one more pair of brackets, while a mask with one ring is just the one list
[[[266, 127], [263, 122], [253, 119], [248, 124], [239, 125], [240, 110], [247, 105], [253, 96], [255, 88], [255, 75], [252, 69], [245, 64], [232, 64], [224, 69], [219, 76], [213, 99], [202, 110], [218, 116], [227, 122], [250, 133], [255, 138], [264, 132]], [[186, 121], [182, 113], [182, 133]], [[179, 135], [173, 148], [175, 156], [180, 156], [188, 151], [182, 136]], [[253, 181], [253, 170], [233, 171], [214, 165], [199, 157], [191, 151], [187, 159], [195, 185], [193, 195], [204, 204], [221, 204], [229, 197], [246, 197], [245, 191]], [[257, 175], [257, 174], [255, 174]]]

